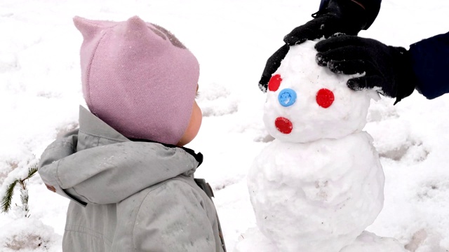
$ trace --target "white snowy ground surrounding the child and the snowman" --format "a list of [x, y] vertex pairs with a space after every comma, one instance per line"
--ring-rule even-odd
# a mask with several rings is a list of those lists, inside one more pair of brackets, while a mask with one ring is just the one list
[[[196, 177], [215, 190], [233, 251], [255, 227], [246, 174], [272, 140], [257, 82], [283, 36], [318, 7], [318, 0], [1, 0], [0, 190], [25, 174], [58, 134], [76, 127], [84, 101], [82, 37], [73, 16], [119, 21], [138, 15], [172, 31], [199, 59], [204, 118], [187, 147], [205, 156]], [[375, 23], [359, 35], [408, 48], [447, 32], [447, 13], [446, 0], [384, 0]], [[367, 230], [394, 237], [409, 251], [449, 251], [449, 97], [427, 100], [414, 92], [393, 103], [372, 102], [365, 127], [386, 176], [384, 209]], [[68, 200], [47, 190], [39, 175], [27, 186], [30, 216], [18, 207], [0, 214], [0, 251], [61, 251]], [[18, 206], [19, 196], [16, 190]]]

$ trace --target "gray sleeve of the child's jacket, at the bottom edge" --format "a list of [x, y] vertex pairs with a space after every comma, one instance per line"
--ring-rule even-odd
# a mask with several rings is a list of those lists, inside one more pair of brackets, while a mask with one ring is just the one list
[[133, 229], [135, 252], [222, 251], [215, 208], [182, 181], [167, 181], [142, 202]]

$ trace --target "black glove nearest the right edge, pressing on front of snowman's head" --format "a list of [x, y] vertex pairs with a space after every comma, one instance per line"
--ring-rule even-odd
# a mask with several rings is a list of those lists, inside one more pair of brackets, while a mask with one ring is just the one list
[[396, 97], [396, 103], [413, 93], [416, 78], [406, 48], [384, 45], [379, 41], [358, 36], [332, 36], [315, 45], [316, 62], [328, 66], [334, 73], [365, 73], [351, 78], [351, 90], [378, 87], [381, 94]]

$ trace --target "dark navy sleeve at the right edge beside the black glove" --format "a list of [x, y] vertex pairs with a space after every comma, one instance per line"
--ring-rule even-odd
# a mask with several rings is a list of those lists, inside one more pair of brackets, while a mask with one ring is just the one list
[[410, 45], [416, 90], [427, 99], [449, 92], [449, 32]]

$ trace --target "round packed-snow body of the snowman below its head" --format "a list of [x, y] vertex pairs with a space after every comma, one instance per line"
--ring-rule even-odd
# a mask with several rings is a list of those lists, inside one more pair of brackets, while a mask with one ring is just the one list
[[384, 173], [370, 140], [358, 132], [264, 148], [248, 188], [257, 226], [279, 248], [272, 251], [338, 252], [373, 223]]

